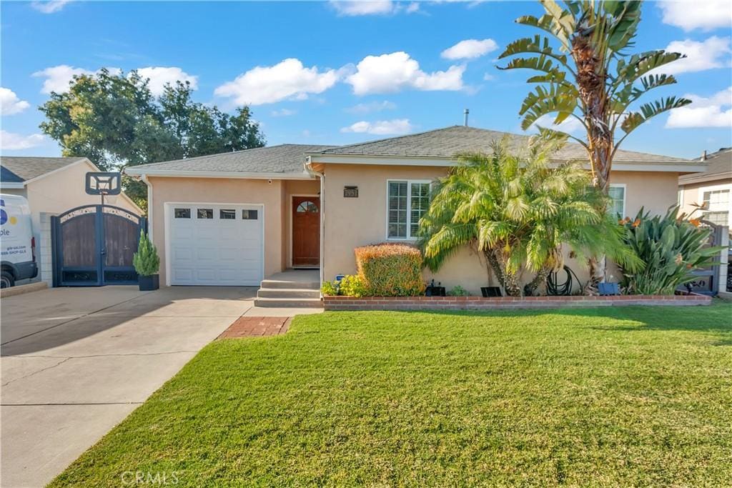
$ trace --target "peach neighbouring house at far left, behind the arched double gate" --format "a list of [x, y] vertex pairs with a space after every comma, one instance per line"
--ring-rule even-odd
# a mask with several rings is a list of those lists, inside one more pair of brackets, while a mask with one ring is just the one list
[[[86, 157], [0, 157], [0, 192], [28, 200], [36, 246], [41, 250], [39, 277], [43, 281], [51, 282], [52, 271], [50, 239], [41, 239], [42, 214], [57, 215], [78, 206], [100, 203], [99, 196], [87, 195], [85, 190], [86, 173], [99, 170]], [[124, 193], [108, 197], [107, 203], [143, 214]], [[43, 224], [48, 226], [48, 219]], [[50, 230], [45, 236], [50, 236]]]

